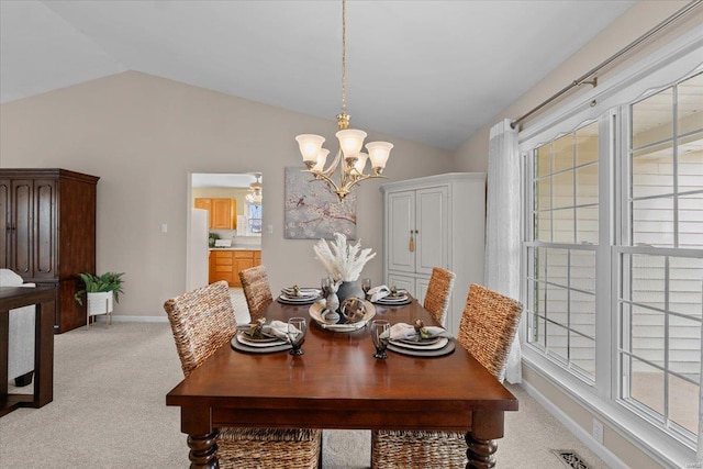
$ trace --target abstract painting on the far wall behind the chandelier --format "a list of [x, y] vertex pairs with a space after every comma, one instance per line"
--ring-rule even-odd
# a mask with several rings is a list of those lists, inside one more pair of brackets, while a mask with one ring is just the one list
[[286, 168], [286, 239], [332, 239], [336, 232], [356, 239], [356, 196], [339, 202], [326, 182], [302, 169]]

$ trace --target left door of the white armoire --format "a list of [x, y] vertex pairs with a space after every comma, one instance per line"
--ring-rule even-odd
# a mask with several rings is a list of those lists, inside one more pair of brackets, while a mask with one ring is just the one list
[[410, 242], [415, 232], [415, 191], [389, 193], [386, 209], [388, 270], [414, 272], [415, 253]]

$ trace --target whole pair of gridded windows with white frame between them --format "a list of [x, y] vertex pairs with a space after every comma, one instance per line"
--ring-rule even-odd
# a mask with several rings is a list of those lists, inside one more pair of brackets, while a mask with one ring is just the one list
[[569, 132], [545, 126], [521, 142], [526, 356], [621, 428], [689, 455], [703, 321], [696, 65], [674, 81], [643, 78], [645, 92], [623, 88], [600, 115], [553, 122]]

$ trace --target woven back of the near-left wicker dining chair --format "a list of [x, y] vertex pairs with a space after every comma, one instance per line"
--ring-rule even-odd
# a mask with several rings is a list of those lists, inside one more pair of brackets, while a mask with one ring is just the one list
[[224, 280], [171, 298], [164, 310], [186, 377], [236, 334], [230, 287]]

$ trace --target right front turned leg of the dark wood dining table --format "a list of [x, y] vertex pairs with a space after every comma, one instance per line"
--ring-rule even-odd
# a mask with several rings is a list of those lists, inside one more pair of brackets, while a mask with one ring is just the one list
[[466, 434], [466, 469], [491, 469], [495, 467], [496, 438], [503, 436], [503, 412], [473, 412], [471, 431]]

